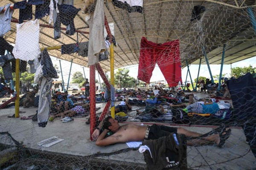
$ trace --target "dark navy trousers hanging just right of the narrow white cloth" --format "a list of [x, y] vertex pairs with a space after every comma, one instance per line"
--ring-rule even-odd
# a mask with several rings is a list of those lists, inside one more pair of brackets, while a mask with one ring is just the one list
[[74, 35], [76, 33], [74, 18], [76, 17], [76, 14], [78, 14], [78, 12], [81, 10], [81, 8], [76, 8], [67, 4], [61, 4], [57, 6], [59, 13], [56, 15], [56, 20], [54, 20], [54, 30], [57, 31], [57, 34], [54, 35], [54, 38], [58, 39], [61, 37], [61, 23], [64, 26], [67, 26], [66, 34]]

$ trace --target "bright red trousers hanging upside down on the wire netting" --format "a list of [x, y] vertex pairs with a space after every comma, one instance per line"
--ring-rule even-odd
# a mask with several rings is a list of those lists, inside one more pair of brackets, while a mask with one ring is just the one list
[[138, 79], [149, 83], [157, 63], [170, 87], [182, 82], [179, 45], [179, 40], [157, 44], [142, 37]]

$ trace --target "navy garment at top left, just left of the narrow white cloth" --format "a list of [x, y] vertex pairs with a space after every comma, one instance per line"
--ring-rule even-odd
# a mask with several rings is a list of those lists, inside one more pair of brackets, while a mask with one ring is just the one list
[[50, 14], [50, 0], [44, 0], [44, 3], [35, 6], [35, 19], [40, 19]]

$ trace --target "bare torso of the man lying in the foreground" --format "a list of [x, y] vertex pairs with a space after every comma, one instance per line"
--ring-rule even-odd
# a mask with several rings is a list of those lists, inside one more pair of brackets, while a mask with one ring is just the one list
[[120, 143], [143, 141], [147, 126], [140, 125], [123, 125], [112, 135]]

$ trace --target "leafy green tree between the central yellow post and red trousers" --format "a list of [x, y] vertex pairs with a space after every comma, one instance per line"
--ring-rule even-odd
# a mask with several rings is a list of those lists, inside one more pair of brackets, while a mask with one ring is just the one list
[[118, 68], [115, 73], [115, 85], [117, 88], [134, 88], [136, 79], [128, 75], [129, 70], [125, 68]]

